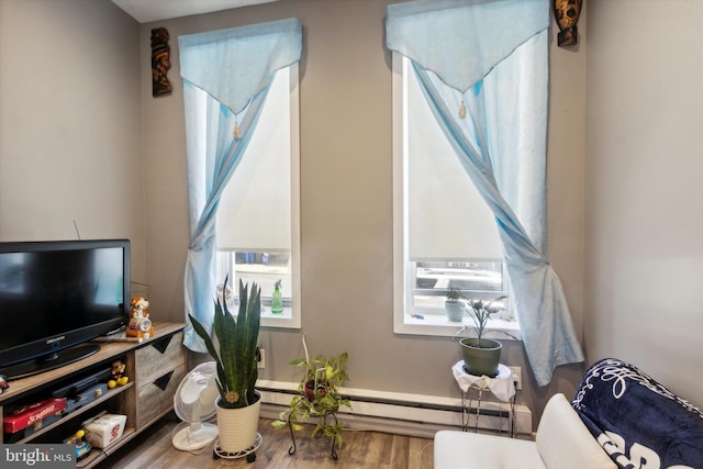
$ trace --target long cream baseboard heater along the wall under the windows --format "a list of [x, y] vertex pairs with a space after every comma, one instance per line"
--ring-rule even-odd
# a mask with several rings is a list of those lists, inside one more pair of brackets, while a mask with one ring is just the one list
[[[263, 394], [261, 417], [278, 418], [297, 393], [298, 383], [258, 380], [256, 387]], [[431, 438], [439, 429], [459, 429], [462, 426], [464, 407], [460, 398], [379, 392], [367, 389], [343, 388], [342, 394], [349, 399], [352, 410], [344, 409], [339, 417], [346, 427], [399, 435]], [[483, 394], [479, 412], [479, 432], [507, 433], [510, 404]], [[468, 426], [476, 426], [476, 402], [468, 409]], [[515, 433], [532, 434], [532, 412], [526, 405], [515, 405]]]

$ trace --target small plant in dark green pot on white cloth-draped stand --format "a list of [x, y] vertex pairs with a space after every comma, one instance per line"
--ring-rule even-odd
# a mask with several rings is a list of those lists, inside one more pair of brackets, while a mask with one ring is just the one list
[[467, 300], [469, 305], [469, 315], [473, 321], [473, 330], [476, 337], [464, 337], [459, 340], [461, 348], [461, 357], [466, 372], [476, 376], [488, 376], [494, 378], [498, 376], [498, 365], [501, 361], [501, 348], [503, 345], [492, 338], [483, 337], [488, 331], [486, 325], [491, 315], [498, 311], [504, 310], [503, 301], [506, 297], [500, 297], [495, 300]]

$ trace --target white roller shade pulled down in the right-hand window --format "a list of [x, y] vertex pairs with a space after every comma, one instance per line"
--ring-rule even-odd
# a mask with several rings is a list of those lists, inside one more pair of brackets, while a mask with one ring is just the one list
[[402, 62], [410, 260], [502, 259], [493, 213], [432, 115], [408, 58]]

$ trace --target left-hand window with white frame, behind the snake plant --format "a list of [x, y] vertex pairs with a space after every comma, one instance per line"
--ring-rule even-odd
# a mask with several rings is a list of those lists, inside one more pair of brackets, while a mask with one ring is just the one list
[[[298, 64], [276, 72], [256, 131], [217, 208], [217, 282], [261, 288], [261, 325], [300, 327]], [[245, 110], [246, 112], [246, 110]], [[271, 312], [280, 281], [283, 312]], [[233, 310], [236, 311], [236, 310]]]

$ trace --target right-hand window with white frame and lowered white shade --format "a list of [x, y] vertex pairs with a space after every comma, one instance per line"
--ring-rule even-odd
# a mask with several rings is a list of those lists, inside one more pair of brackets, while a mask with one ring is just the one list
[[[509, 294], [493, 213], [432, 115], [408, 58], [393, 53], [394, 331], [453, 336], [445, 294]], [[515, 335], [509, 310], [490, 327]], [[471, 324], [465, 317], [464, 324]]]

